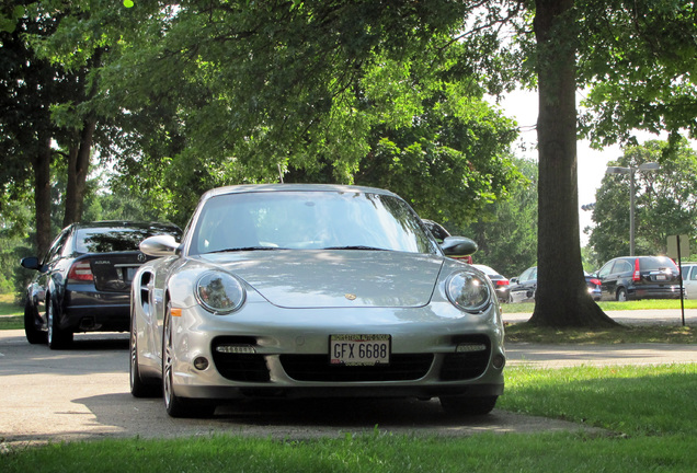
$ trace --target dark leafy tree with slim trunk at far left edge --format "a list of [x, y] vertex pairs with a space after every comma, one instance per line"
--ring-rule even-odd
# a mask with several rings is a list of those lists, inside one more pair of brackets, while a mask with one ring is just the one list
[[[10, 9], [12, 8], [12, 9]], [[26, 35], [50, 34], [54, 19], [32, 16], [22, 4], [3, 3], [0, 15], [0, 153], [3, 157], [2, 187], [9, 199], [34, 189], [36, 244], [39, 253], [50, 244], [52, 139], [57, 127], [50, 118], [50, 104], [65, 90], [56, 79], [59, 67], [34, 55]], [[31, 185], [27, 183], [32, 183]], [[0, 205], [3, 205], [0, 198]], [[3, 205], [4, 207], [4, 205]]]

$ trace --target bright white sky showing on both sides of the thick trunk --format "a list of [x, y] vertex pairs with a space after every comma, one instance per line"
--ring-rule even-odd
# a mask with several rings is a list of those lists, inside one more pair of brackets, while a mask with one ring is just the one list
[[[581, 96], [576, 99], [576, 102], [580, 101]], [[535, 130], [538, 112], [537, 92], [512, 92], [500, 102], [499, 106], [506, 116], [518, 123], [522, 130], [519, 141], [528, 150], [524, 157], [537, 161], [537, 131]], [[643, 140], [640, 138], [640, 141]], [[593, 220], [591, 219], [592, 212], [581, 209], [581, 206], [595, 201], [595, 191], [601, 186], [607, 163], [622, 155], [622, 149], [619, 146], [613, 146], [603, 150], [594, 150], [589, 146], [589, 141], [584, 140], [579, 141], [576, 152], [579, 155], [579, 223], [581, 245], [585, 246], [589, 242], [589, 235], [583, 230], [593, 226]], [[516, 154], [521, 155], [517, 151]], [[627, 211], [629, 211], [629, 196], [627, 196]]]

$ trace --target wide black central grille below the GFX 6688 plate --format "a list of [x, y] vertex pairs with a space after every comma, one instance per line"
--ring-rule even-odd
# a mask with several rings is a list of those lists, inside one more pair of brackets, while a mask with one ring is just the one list
[[392, 355], [389, 365], [377, 366], [331, 365], [328, 355], [282, 355], [281, 364], [297, 381], [409, 381], [426, 376], [433, 355]]

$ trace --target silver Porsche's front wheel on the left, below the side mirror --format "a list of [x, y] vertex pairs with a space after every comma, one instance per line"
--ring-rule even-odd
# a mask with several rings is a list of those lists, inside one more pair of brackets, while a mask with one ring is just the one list
[[174, 394], [172, 364], [172, 305], [167, 304], [164, 314], [164, 330], [162, 333], [162, 394], [164, 407], [172, 417], [208, 417], [215, 411], [215, 405], [205, 401], [183, 399]]

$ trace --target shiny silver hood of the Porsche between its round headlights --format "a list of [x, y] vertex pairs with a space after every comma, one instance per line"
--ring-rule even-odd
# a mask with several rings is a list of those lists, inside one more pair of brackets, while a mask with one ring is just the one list
[[413, 308], [429, 303], [444, 258], [388, 251], [263, 251], [201, 255], [283, 308]]

